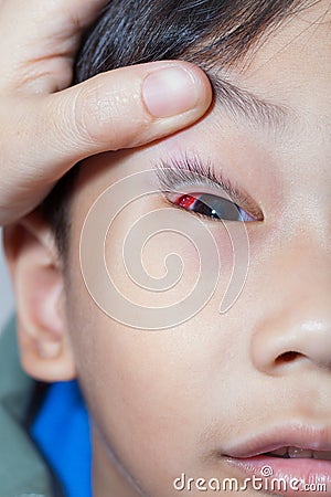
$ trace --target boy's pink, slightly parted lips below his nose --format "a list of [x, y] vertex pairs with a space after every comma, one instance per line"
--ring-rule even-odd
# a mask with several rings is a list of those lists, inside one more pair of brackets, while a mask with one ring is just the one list
[[[265, 486], [271, 485], [271, 480], [285, 482], [281, 491], [277, 489], [277, 484], [275, 488], [264, 487], [268, 494], [298, 496], [302, 494], [303, 485], [308, 485], [305, 496], [331, 497], [331, 461], [281, 458], [266, 454], [284, 446], [318, 452], [331, 451], [331, 426], [277, 426], [236, 443], [223, 453], [223, 457], [241, 476], [249, 477], [250, 482], [254, 477], [263, 478]], [[264, 468], [268, 468], [268, 474], [263, 473]], [[300, 482], [299, 489], [293, 482]]]

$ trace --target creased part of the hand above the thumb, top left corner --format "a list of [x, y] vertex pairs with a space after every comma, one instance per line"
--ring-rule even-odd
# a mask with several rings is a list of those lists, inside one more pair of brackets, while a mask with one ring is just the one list
[[[0, 3], [0, 89], [53, 75], [55, 84], [28, 89], [49, 93], [68, 86], [82, 30], [106, 0], [2, 0]], [[14, 49], [14, 50], [13, 50]]]

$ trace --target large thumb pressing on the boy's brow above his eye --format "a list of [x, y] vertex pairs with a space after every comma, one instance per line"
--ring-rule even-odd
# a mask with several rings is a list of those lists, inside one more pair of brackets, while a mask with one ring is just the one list
[[3, 98], [0, 224], [34, 209], [79, 160], [170, 135], [197, 120], [211, 101], [207, 76], [179, 61], [110, 71], [51, 95]]

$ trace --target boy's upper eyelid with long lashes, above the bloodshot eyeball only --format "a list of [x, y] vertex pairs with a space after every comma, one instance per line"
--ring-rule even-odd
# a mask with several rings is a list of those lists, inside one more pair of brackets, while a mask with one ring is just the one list
[[[225, 178], [221, 171], [215, 171], [211, 160], [203, 162], [200, 158], [185, 155], [182, 158], [160, 160], [154, 163], [156, 175], [160, 189], [163, 191], [178, 191], [184, 186], [210, 186], [232, 202], [237, 203], [257, 220], [263, 220], [264, 214], [254, 200]], [[214, 193], [215, 194], [215, 193]]]

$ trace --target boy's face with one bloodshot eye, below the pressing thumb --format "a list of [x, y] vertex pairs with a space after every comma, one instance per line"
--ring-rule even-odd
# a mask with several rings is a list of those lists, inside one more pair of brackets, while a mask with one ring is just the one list
[[[150, 497], [178, 495], [173, 480], [182, 473], [186, 489], [188, 478], [194, 478], [191, 496], [201, 495], [195, 486], [200, 477], [237, 477], [243, 483], [254, 470], [260, 476], [253, 459], [248, 474], [237, 459], [229, 459], [238, 455], [239, 446], [244, 446], [242, 455], [277, 446], [316, 447], [328, 450], [330, 458], [330, 12], [322, 18], [327, 8], [328, 2], [320, 2], [285, 23], [242, 72], [215, 73], [271, 103], [273, 108], [256, 110], [246, 98], [245, 110], [236, 104], [231, 110], [221, 96], [190, 129], [139, 150], [90, 158], [82, 167], [72, 209], [64, 307], [77, 376], [94, 420], [98, 497], [139, 495], [137, 488]], [[190, 163], [213, 163], [216, 176], [222, 170], [223, 178], [242, 192], [235, 202], [258, 219], [248, 218], [245, 223], [247, 278], [234, 305], [220, 314], [233, 266], [239, 267], [239, 279], [246, 274], [246, 248], [239, 256], [236, 253], [241, 252], [238, 240], [245, 240], [242, 222], [231, 221], [227, 231], [221, 221], [171, 207], [161, 192], [137, 199], [132, 191], [132, 202], [116, 215], [108, 233], [103, 231], [102, 219], [100, 226], [95, 224], [87, 232], [93, 243], [96, 235], [105, 237], [108, 272], [122, 296], [143, 314], [146, 307], [167, 307], [185, 299], [203, 277], [203, 285], [197, 286], [203, 298], [206, 281], [220, 269], [211, 298], [200, 303], [195, 294], [194, 302], [202, 309], [196, 314], [197, 308], [190, 309], [190, 319], [175, 322], [174, 311], [170, 329], [135, 329], [129, 325], [135, 318], [140, 322], [140, 315], [116, 308], [114, 313], [124, 318], [118, 322], [87, 290], [79, 264], [82, 228], [93, 202], [109, 186], [156, 169], [160, 161], [177, 168], [185, 156]], [[158, 186], [156, 173], [143, 178], [142, 191]], [[119, 187], [113, 191], [121, 194]], [[213, 194], [218, 201], [222, 197], [220, 189], [203, 182], [186, 182], [182, 191], [195, 197]], [[247, 194], [252, 200], [247, 201]], [[171, 194], [168, 200], [180, 197]], [[143, 219], [152, 211], [153, 224]], [[113, 214], [103, 212], [106, 220]], [[203, 224], [194, 247], [185, 233], [194, 232], [199, 219]], [[177, 232], [167, 230], [168, 221]], [[142, 246], [145, 239], [138, 229], [140, 235], [129, 239], [132, 258], [126, 260], [122, 247], [135, 223], [147, 224], [156, 235]], [[212, 234], [221, 266], [214, 266], [211, 255], [203, 266], [205, 273], [200, 274], [199, 254], [204, 257], [212, 246], [203, 226]], [[83, 245], [86, 255], [88, 247]], [[162, 278], [164, 258], [171, 253], [182, 257], [183, 274], [167, 290], [147, 290], [145, 281], [136, 284], [126, 273], [125, 263], [134, 269], [143, 264], [150, 277]], [[89, 257], [98, 295], [107, 303], [107, 278], [94, 267], [100, 254], [92, 252]], [[171, 271], [170, 266], [170, 276]], [[273, 462], [276, 477], [302, 478], [309, 473], [302, 459], [264, 461]], [[329, 491], [323, 495], [331, 496], [331, 463], [322, 463], [319, 469], [318, 464], [310, 466], [311, 480], [327, 475]], [[249, 487], [246, 495], [257, 495], [257, 490]]]

